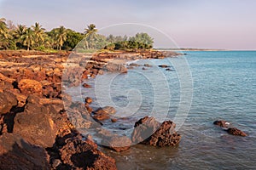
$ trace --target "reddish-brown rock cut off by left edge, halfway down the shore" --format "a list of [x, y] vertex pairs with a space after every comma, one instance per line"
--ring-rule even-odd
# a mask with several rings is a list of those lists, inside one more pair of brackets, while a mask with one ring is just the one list
[[11, 108], [18, 105], [15, 95], [9, 92], [0, 93], [0, 114], [8, 113]]

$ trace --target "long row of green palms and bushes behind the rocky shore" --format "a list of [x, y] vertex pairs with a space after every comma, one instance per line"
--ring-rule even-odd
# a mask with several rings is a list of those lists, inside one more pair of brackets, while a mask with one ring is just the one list
[[67, 29], [64, 26], [45, 31], [38, 22], [34, 26], [14, 26], [11, 21], [0, 19], [0, 49], [34, 50], [79, 50], [108, 49], [134, 50], [153, 48], [153, 38], [147, 33], [134, 37], [98, 34], [96, 26], [90, 24], [84, 32]]

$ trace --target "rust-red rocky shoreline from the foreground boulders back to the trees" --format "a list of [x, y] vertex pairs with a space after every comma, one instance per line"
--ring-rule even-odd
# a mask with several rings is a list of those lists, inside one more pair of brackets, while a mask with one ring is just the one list
[[[116, 169], [112, 157], [98, 150], [88, 135], [84, 137], [74, 127], [63, 100], [74, 114], [84, 110], [91, 118], [90, 99], [86, 103], [73, 103], [70, 96], [61, 93], [61, 82], [77, 86], [82, 79], [96, 77], [104, 71], [127, 72], [126, 60], [163, 59], [177, 56], [175, 52], [141, 51], [103, 54], [45, 54], [42, 52], [0, 53], [0, 168], [1, 169]], [[77, 62], [79, 59], [79, 62]], [[66, 65], [66, 76], [63, 71]], [[70, 69], [70, 70], [69, 70]], [[86, 88], [86, 85], [84, 85]], [[90, 87], [87, 87], [90, 88]], [[103, 114], [104, 111], [101, 113]], [[95, 117], [97, 121], [100, 120]], [[150, 145], [175, 145], [180, 135], [173, 122], [149, 121], [143, 126], [160, 126], [150, 139]], [[151, 120], [153, 118], [149, 118]], [[87, 119], [85, 119], [87, 120]], [[113, 120], [114, 121], [114, 120]], [[154, 123], [153, 123], [154, 122]], [[90, 127], [90, 121], [79, 122]], [[153, 124], [152, 124], [153, 123]], [[85, 126], [85, 127], [86, 127]], [[138, 124], [136, 125], [139, 126]], [[137, 129], [137, 128], [135, 128]], [[139, 138], [144, 128], [134, 133]], [[170, 131], [172, 129], [173, 132]], [[162, 133], [165, 133], [162, 135]], [[161, 139], [157, 137], [161, 135]], [[115, 136], [106, 141], [116, 151], [129, 149], [117, 147]], [[134, 138], [137, 139], [137, 138]], [[159, 139], [157, 141], [156, 139]], [[175, 140], [170, 140], [175, 139]], [[119, 139], [118, 139], [119, 140]], [[130, 144], [130, 140], [121, 141]]]

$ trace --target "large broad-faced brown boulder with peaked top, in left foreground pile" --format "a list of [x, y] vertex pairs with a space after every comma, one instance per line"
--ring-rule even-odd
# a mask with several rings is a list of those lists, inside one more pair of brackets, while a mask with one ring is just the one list
[[47, 108], [39, 104], [36, 96], [31, 95], [25, 111], [15, 116], [13, 132], [31, 144], [51, 147], [55, 143], [57, 128]]

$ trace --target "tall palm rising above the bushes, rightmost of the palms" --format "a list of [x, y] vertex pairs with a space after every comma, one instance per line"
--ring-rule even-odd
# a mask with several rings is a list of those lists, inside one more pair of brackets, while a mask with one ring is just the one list
[[96, 44], [96, 40], [98, 37], [98, 34], [96, 33], [98, 30], [96, 29], [96, 26], [94, 24], [90, 24], [87, 26], [87, 28], [84, 29], [84, 37], [85, 42], [87, 45], [87, 48], [94, 48]]

